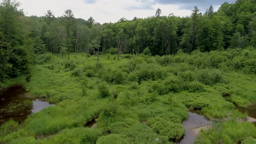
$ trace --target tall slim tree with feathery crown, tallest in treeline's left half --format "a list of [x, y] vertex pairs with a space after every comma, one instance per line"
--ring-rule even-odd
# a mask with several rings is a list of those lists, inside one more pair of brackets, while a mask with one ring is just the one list
[[68, 59], [69, 59], [69, 53], [72, 47], [71, 44], [71, 36], [72, 36], [72, 27], [75, 23], [75, 18], [72, 10], [65, 10], [64, 13], [64, 18], [65, 18], [65, 24], [66, 24], [66, 33], [67, 33], [67, 38], [66, 38], [66, 47], [68, 48]]

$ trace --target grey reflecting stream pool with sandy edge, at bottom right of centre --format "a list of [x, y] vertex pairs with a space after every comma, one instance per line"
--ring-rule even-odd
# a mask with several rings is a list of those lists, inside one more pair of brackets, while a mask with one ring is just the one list
[[210, 120], [205, 118], [203, 115], [197, 114], [196, 111], [189, 111], [188, 115], [189, 117], [187, 120], [182, 122], [182, 125], [186, 130], [186, 134], [177, 144], [194, 144], [195, 135], [192, 133], [192, 130], [212, 124]]

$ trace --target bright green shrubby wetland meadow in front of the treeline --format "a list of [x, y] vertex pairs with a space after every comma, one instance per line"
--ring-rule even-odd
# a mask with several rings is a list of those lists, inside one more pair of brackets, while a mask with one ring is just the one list
[[[36, 56], [28, 95], [55, 103], [21, 124], [0, 126], [0, 143], [172, 144], [185, 134], [181, 122], [197, 110], [216, 121], [202, 130], [198, 144], [250, 144], [256, 127], [235, 105], [256, 104], [254, 48], [173, 56], [86, 53], [68, 60], [50, 53]], [[97, 126], [84, 125], [95, 119]], [[220, 132], [221, 131], [221, 132]]]

